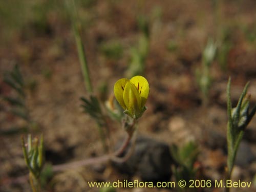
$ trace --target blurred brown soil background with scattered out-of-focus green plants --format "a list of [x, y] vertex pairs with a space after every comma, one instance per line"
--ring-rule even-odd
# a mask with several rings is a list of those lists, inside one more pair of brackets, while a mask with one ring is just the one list
[[[200, 177], [223, 178], [228, 77], [232, 78], [233, 105], [247, 81], [250, 101], [256, 102], [256, 2], [74, 2], [93, 89], [102, 105], [113, 95], [116, 80], [145, 76], [150, 95], [139, 135], [168, 146], [196, 143], [199, 153], [194, 163], [200, 167]], [[0, 190], [29, 191], [20, 135], [44, 134], [46, 162], [52, 165], [100, 156], [104, 151], [97, 124], [80, 107], [80, 97], [89, 94], [65, 1], [1, 1], [0, 29]], [[3, 99], [16, 94], [4, 81], [15, 65], [24, 80], [24, 114], [15, 109], [13, 113], [15, 104]], [[121, 124], [109, 123], [116, 143], [125, 133]], [[253, 181], [255, 160], [256, 118], [242, 140], [234, 179]], [[87, 181], [140, 176], [99, 164], [48, 173], [43, 188], [99, 191], [90, 189]], [[144, 190], [177, 189], [117, 189]]]

